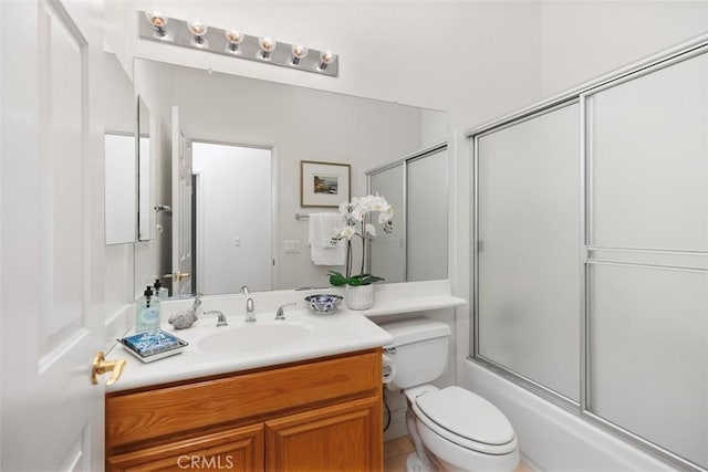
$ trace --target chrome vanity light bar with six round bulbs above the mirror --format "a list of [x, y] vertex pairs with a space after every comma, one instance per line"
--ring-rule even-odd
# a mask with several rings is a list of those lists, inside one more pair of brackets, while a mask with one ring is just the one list
[[[2, 1], [2, 0], [0, 0]], [[138, 11], [138, 35], [143, 40], [159, 41], [230, 57], [257, 61], [336, 77], [340, 74], [337, 55], [331, 50], [308, 49], [302, 42], [292, 44], [275, 41], [272, 35], [247, 34], [240, 28], [207, 25], [200, 18], [189, 21], [168, 18], [158, 8]]]

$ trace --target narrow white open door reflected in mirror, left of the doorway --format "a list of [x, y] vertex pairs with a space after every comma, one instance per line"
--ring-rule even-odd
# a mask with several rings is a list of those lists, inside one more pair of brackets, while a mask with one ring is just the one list
[[191, 290], [191, 147], [173, 106], [173, 295]]

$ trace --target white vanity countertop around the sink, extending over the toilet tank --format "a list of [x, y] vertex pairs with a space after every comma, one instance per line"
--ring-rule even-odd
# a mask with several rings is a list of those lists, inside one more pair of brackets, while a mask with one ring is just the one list
[[[125, 358], [127, 365], [122, 377], [113, 386], [106, 387], [106, 392], [381, 347], [393, 342], [393, 338], [368, 317], [454, 308], [467, 304], [466, 300], [450, 294], [447, 280], [377, 285], [374, 307], [351, 311], [343, 306], [333, 315], [313, 315], [304, 307], [303, 298], [313, 293], [343, 294], [343, 290], [330, 287], [313, 291], [258, 292], [249, 296], [241, 294], [204, 296], [198, 313], [219, 310], [227, 316], [229, 322], [227, 327], [216, 327], [215, 316], [199, 315], [199, 319], [192, 327], [175, 329], [167, 323], [167, 318], [173, 313], [187, 310], [192, 298], [163, 302], [162, 328], [186, 340], [189, 345], [178, 355], [144, 364], [127, 353], [122, 345], [116, 344], [108, 353], [108, 357]], [[298, 306], [285, 308], [285, 318], [291, 323], [309, 326], [311, 334], [294, 342], [288, 339], [284, 344], [274, 340], [273, 345], [267, 348], [240, 352], [237, 348], [230, 354], [208, 352], [208, 346], [205, 346], [209, 342], [200, 346], [200, 342], [208, 336], [239, 327], [248, 328], [243, 322], [248, 297], [253, 298], [256, 304], [257, 322], [252, 326], [258, 326], [259, 322], [261, 326], [271, 323], [278, 306], [298, 302]], [[127, 312], [132, 314], [133, 308]], [[264, 336], [262, 333], [259, 335]]]

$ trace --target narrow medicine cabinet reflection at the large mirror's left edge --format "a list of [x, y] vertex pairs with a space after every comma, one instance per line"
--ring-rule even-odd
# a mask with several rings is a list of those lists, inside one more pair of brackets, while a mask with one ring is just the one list
[[138, 162], [138, 241], [154, 238], [155, 211], [150, 185], [153, 178], [153, 158], [150, 153], [150, 112], [145, 102], [137, 101], [137, 162]]

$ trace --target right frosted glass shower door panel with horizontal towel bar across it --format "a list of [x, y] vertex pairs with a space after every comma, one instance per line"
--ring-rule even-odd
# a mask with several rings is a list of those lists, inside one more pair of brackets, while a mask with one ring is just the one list
[[708, 56], [590, 91], [587, 411], [708, 466]]

